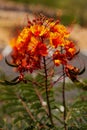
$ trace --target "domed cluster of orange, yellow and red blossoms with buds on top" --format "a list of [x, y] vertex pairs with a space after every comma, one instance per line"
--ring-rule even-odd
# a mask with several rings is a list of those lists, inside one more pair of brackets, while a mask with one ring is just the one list
[[76, 48], [68, 39], [68, 29], [58, 20], [36, 17], [28, 21], [19, 36], [12, 40], [12, 60], [20, 73], [32, 72], [41, 68], [41, 59], [49, 54], [48, 46], [53, 50], [53, 62], [56, 66], [67, 65], [75, 53]]

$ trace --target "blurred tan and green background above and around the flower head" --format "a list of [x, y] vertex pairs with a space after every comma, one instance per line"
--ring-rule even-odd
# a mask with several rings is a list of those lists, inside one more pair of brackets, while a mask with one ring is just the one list
[[3, 56], [9, 54], [11, 38], [34, 13], [60, 19], [69, 26], [71, 38], [78, 44], [87, 65], [87, 0], [0, 0], [0, 53]]

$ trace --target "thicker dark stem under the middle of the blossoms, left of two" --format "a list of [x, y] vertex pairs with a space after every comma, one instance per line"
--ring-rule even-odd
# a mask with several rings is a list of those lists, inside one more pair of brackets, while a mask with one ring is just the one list
[[50, 107], [50, 101], [49, 101], [49, 95], [48, 95], [48, 87], [47, 87], [48, 79], [47, 79], [47, 69], [46, 69], [46, 59], [45, 59], [45, 57], [43, 57], [43, 62], [44, 62], [44, 70], [45, 70], [46, 99], [47, 99], [47, 106], [48, 106], [48, 111], [49, 111], [48, 117], [50, 118], [50, 122], [51, 122], [52, 126], [54, 126], [53, 119], [52, 119], [52, 113], [51, 113], [51, 107]]

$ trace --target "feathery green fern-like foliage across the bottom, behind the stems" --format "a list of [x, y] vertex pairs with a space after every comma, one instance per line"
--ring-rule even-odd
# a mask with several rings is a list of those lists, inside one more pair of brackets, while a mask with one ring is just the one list
[[[44, 80], [40, 75], [33, 79], [32, 76], [26, 77], [31, 81], [42, 83]], [[2, 79], [2, 77], [0, 77]], [[84, 81], [87, 83], [87, 80]], [[74, 94], [72, 95], [72, 91]], [[75, 94], [75, 91], [77, 93]], [[39, 96], [38, 96], [38, 93]], [[66, 83], [66, 123], [68, 130], [86, 130], [87, 129], [87, 91], [83, 90], [82, 84], [76, 85]], [[45, 107], [41, 105], [39, 97], [46, 102], [44, 86], [34, 86], [30, 83], [20, 83], [17, 85], [8, 85], [0, 83], [0, 128], [3, 130], [38, 130], [38, 125], [45, 125], [40, 130], [64, 130], [62, 106], [62, 84], [49, 91], [52, 116], [55, 127], [51, 129]], [[35, 118], [32, 120], [29, 112]], [[58, 126], [58, 127], [57, 127]]]

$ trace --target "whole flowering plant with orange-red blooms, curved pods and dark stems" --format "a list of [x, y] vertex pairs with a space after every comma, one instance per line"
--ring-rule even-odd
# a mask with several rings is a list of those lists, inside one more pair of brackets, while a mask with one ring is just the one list
[[[35, 115], [36, 109], [38, 109], [36, 108], [33, 111], [32, 106], [35, 102], [32, 101], [33, 103], [31, 103], [30, 101], [30, 104], [28, 104], [27, 102], [29, 102], [30, 99], [28, 100], [27, 96], [23, 96], [27, 91], [24, 90], [23, 94], [17, 92], [16, 96], [21, 101], [30, 117], [29, 122], [33, 121], [33, 127], [31, 128], [30, 125], [30, 127], [28, 126], [28, 129], [58, 130], [54, 117], [63, 124], [64, 130], [67, 130], [68, 128], [65, 78], [68, 77], [73, 82], [79, 83], [78, 75], [85, 71], [85, 67], [80, 70], [80, 68], [71, 64], [71, 61], [78, 55], [79, 50], [77, 51], [75, 43], [70, 40], [69, 37], [70, 32], [68, 28], [62, 25], [59, 20], [39, 15], [33, 20], [28, 20], [27, 26], [11, 41], [12, 60], [11, 62], [8, 62], [6, 58], [5, 61], [8, 65], [15, 67], [19, 75], [11, 81], [5, 80], [4, 83], [9, 85], [21, 84], [21, 82], [29, 84], [27, 89], [33, 89], [32, 91], [35, 92], [35, 95], [37, 95], [39, 99], [39, 107], [41, 107], [43, 109], [42, 111], [44, 111], [43, 113], [45, 113], [39, 115], [38, 112]], [[61, 72], [59, 72], [58, 68], [61, 69]], [[30, 78], [29, 76], [33, 73], [36, 77]], [[28, 77], [26, 77], [26, 74], [28, 74]], [[57, 78], [55, 78], [55, 75]], [[60, 80], [63, 81], [63, 121], [54, 115], [54, 110], [57, 110], [58, 108], [56, 105], [51, 106], [50, 101], [50, 94], [52, 94], [51, 96], [53, 98], [54, 86]]]

